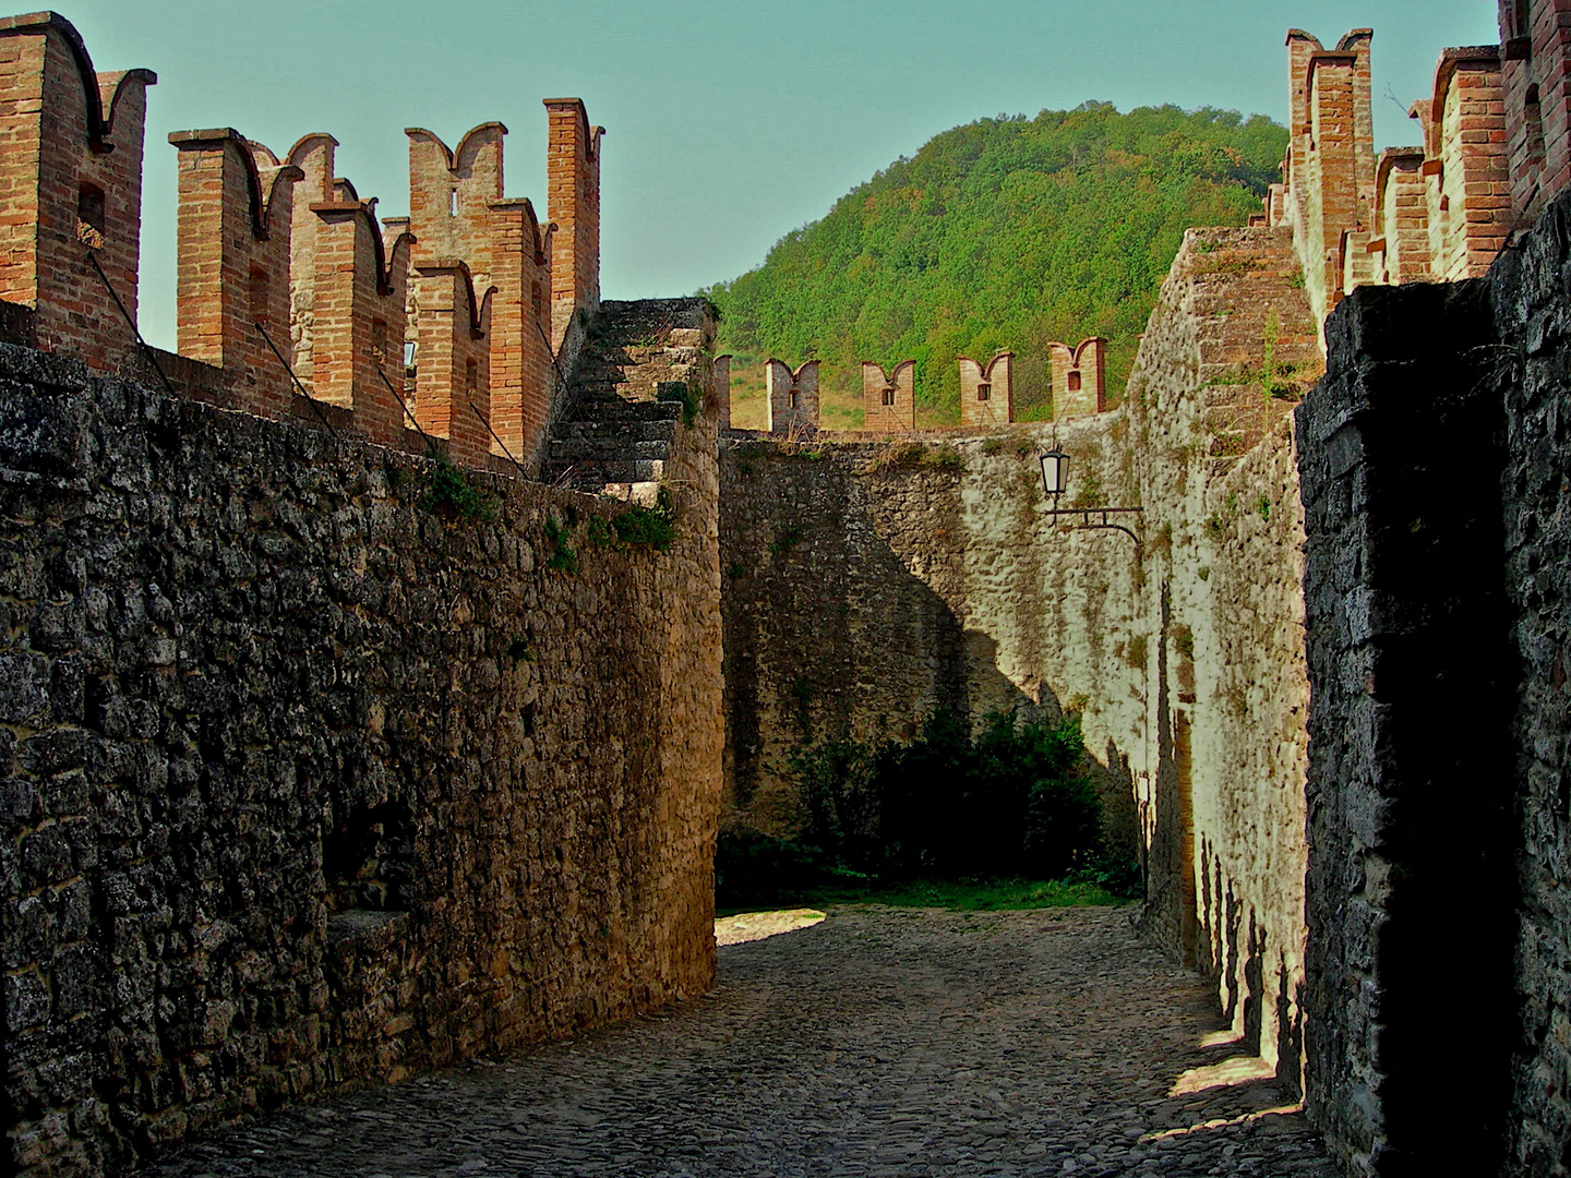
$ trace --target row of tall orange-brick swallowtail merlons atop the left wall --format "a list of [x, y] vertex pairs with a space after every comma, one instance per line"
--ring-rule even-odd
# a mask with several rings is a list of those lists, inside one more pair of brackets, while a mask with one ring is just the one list
[[559, 368], [600, 298], [603, 129], [583, 102], [545, 102], [545, 225], [504, 196], [501, 123], [456, 149], [408, 129], [410, 217], [385, 223], [336, 174], [325, 132], [283, 155], [233, 127], [170, 135], [179, 358], [160, 360], [135, 328], [156, 80], [96, 72], [55, 13], [0, 19], [0, 300], [27, 308], [6, 316], [8, 338], [101, 369], [173, 372], [259, 416], [298, 416], [303, 393], [371, 441], [415, 446], [418, 423], [459, 460], [536, 463]]

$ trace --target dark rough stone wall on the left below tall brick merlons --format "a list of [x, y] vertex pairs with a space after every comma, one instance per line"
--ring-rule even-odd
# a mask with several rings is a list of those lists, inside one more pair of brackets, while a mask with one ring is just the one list
[[713, 446], [616, 551], [619, 504], [471, 476], [446, 520], [423, 460], [0, 349], [16, 1170], [710, 985]]

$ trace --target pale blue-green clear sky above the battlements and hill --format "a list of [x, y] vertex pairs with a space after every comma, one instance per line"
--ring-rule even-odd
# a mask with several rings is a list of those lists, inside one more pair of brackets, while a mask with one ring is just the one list
[[101, 71], [148, 101], [141, 327], [174, 349], [171, 130], [236, 127], [286, 151], [338, 141], [379, 214], [408, 210], [405, 127], [456, 145], [501, 119], [507, 196], [545, 209], [545, 110], [606, 127], [602, 294], [690, 294], [949, 127], [1089, 99], [1277, 121], [1284, 35], [1375, 28], [1378, 146], [1447, 46], [1499, 41], [1491, 0], [64, 0]]

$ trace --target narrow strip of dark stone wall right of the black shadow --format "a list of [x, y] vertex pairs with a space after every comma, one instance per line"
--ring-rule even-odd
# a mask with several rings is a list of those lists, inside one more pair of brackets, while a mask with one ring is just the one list
[[[1546, 119], [1547, 121], [1547, 119]], [[1505, 693], [1516, 759], [1519, 1049], [1513, 1066], [1510, 1172], [1571, 1165], [1571, 327], [1566, 324], [1571, 198], [1491, 272], [1499, 346], [1492, 390], [1505, 408], [1505, 592], [1519, 679]]]

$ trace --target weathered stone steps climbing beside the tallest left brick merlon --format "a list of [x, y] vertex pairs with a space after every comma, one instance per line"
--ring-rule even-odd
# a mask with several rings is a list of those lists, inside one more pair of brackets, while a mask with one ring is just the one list
[[617, 498], [652, 493], [683, 413], [680, 401], [658, 401], [660, 386], [687, 386], [704, 342], [701, 298], [603, 302], [551, 426], [542, 481]]

